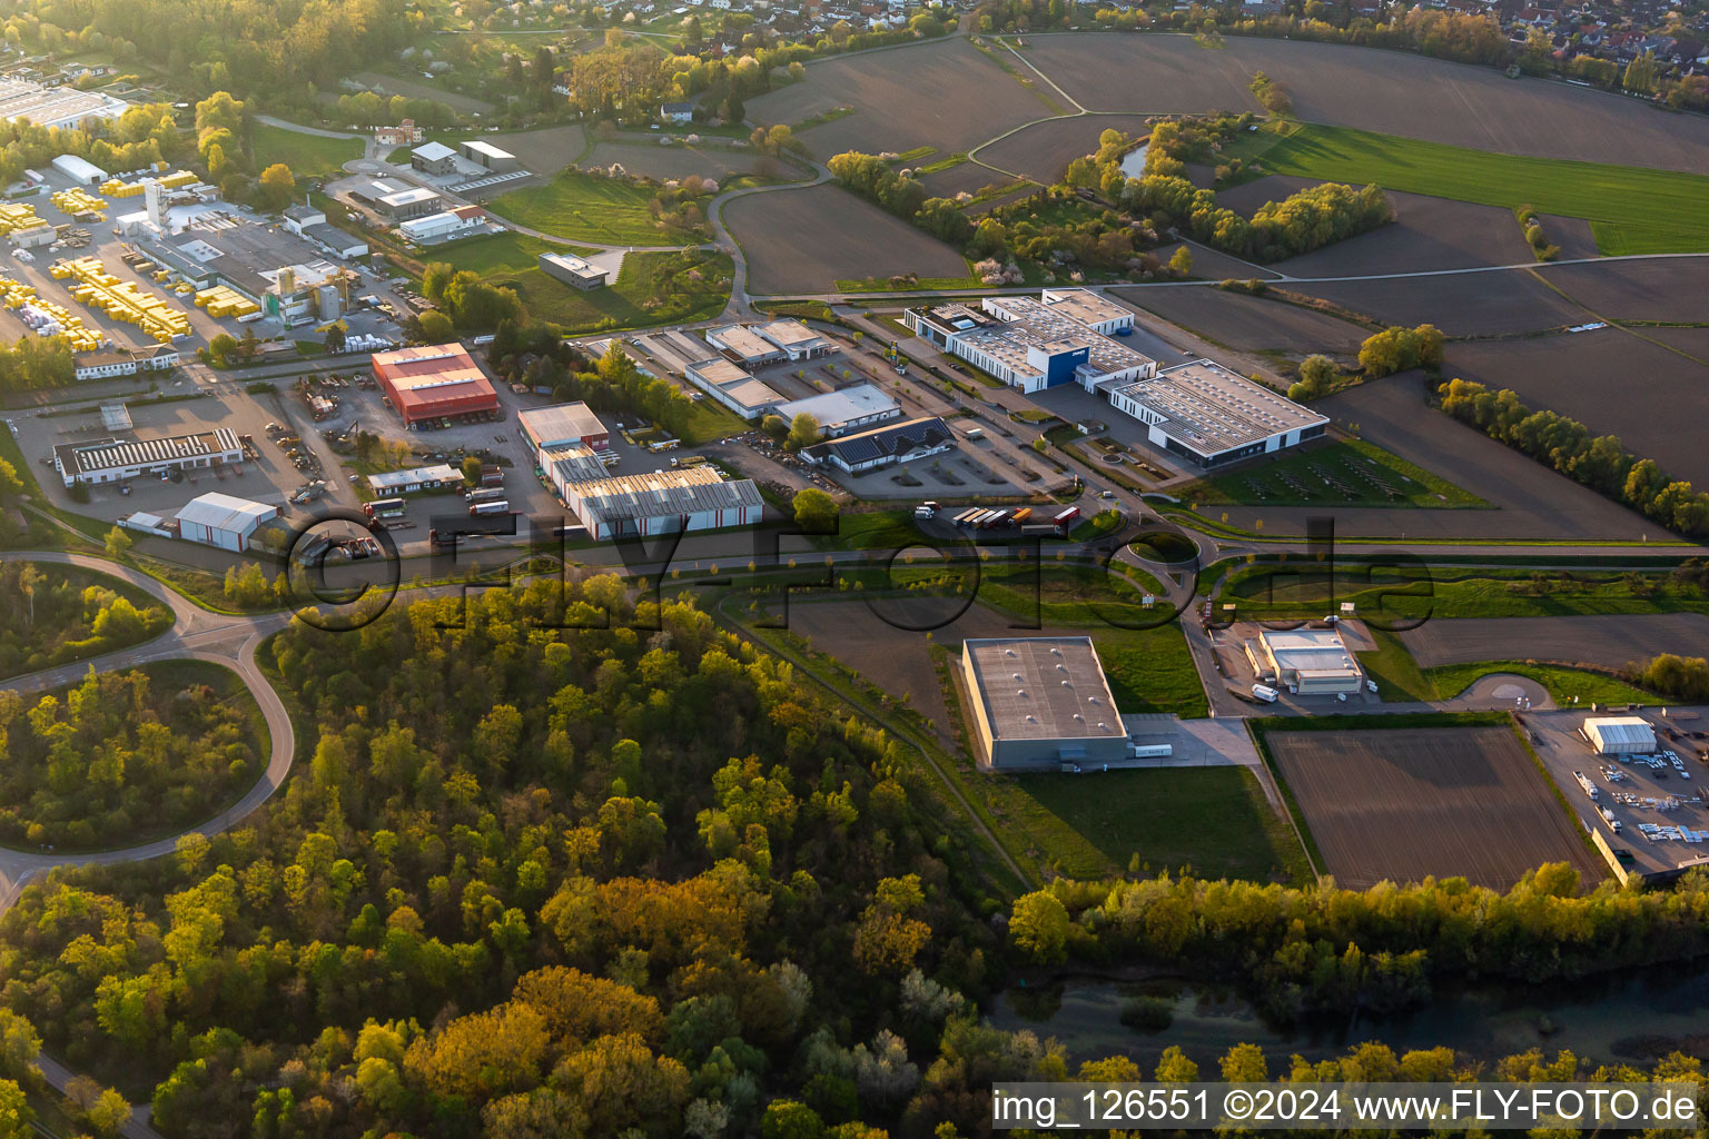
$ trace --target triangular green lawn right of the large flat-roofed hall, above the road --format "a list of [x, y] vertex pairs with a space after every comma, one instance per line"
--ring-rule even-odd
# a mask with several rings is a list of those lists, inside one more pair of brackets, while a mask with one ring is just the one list
[[[1340, 485], [1328, 482], [1330, 478]], [[1362, 439], [1331, 442], [1275, 463], [1219, 475], [1184, 488], [1183, 497], [1201, 504], [1242, 505], [1489, 505], [1446, 478]]]

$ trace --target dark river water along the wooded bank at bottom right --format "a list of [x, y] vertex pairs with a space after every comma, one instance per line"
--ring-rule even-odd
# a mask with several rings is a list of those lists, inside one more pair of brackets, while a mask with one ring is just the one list
[[[1159, 1031], [1128, 1028], [1121, 1006], [1131, 997], [1169, 1004], [1174, 1021]], [[1543, 1048], [1572, 1048], [1593, 1062], [1639, 1066], [1673, 1048], [1709, 1048], [1709, 961], [1653, 965], [1625, 973], [1552, 985], [1487, 985], [1444, 990], [1403, 1016], [1360, 1016], [1355, 1023], [1278, 1026], [1261, 1018], [1234, 989], [1181, 980], [1113, 982], [1068, 978], [1037, 989], [1008, 989], [988, 1021], [1056, 1037], [1073, 1060], [1131, 1055], [1148, 1067], [1179, 1045], [1207, 1071], [1237, 1043], [1256, 1043], [1271, 1071], [1299, 1052], [1306, 1059], [1340, 1055], [1365, 1040], [1396, 1052], [1448, 1045], [1480, 1060]], [[1694, 1038], [1694, 1040], [1688, 1040]]]

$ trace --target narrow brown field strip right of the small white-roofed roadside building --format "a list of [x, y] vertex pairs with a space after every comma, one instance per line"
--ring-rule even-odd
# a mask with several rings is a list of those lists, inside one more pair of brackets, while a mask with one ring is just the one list
[[1706, 613], [1430, 620], [1400, 634], [1420, 668], [1478, 661], [1571, 661], [1622, 669], [1659, 652], [1702, 656]]

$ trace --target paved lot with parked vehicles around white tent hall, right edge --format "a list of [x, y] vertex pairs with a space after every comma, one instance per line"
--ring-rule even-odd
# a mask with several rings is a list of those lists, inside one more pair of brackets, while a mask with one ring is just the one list
[[[1596, 755], [1584, 721], [1610, 712], [1526, 712], [1521, 721], [1579, 825], [1600, 835], [1622, 874], [1668, 876], [1709, 864], [1709, 709], [1644, 709], [1656, 751]], [[1594, 789], [1591, 799], [1579, 777]], [[1618, 827], [1618, 828], [1617, 828]]]

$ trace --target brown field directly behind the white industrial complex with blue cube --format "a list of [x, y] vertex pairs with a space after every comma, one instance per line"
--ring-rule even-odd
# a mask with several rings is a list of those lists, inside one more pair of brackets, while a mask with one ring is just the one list
[[[1193, 270], [1201, 272], [1200, 249]], [[1205, 258], [1208, 261], [1208, 258]], [[1232, 260], [1232, 258], [1230, 258]], [[1328, 312], [1208, 285], [1111, 289], [1128, 304], [1236, 352], [1355, 353], [1369, 330]]]

